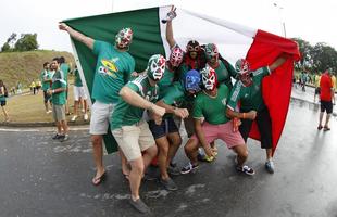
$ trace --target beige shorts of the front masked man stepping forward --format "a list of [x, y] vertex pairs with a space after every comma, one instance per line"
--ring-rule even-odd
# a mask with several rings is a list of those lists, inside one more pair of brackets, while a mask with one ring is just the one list
[[111, 130], [127, 161], [141, 157], [141, 152], [155, 145], [148, 123], [140, 120], [132, 126]]

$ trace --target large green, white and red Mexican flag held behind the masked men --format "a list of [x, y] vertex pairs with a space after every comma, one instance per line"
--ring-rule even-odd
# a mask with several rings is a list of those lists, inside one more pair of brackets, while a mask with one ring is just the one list
[[[97, 16], [64, 21], [72, 28], [93, 38], [114, 43], [114, 37], [123, 27], [130, 27], [134, 40], [129, 53], [136, 60], [136, 71], [142, 72], [148, 59], [155, 53], [168, 58], [170, 48], [165, 39], [166, 25], [161, 21], [166, 17], [171, 7], [159, 7], [136, 11], [118, 12]], [[288, 60], [263, 81], [263, 95], [270, 108], [273, 125], [273, 149], [275, 151], [282, 135], [290, 100], [292, 63], [299, 59], [297, 44], [283, 37], [263, 30], [252, 29], [233, 22], [204, 14], [177, 9], [173, 21], [176, 42], [185, 48], [191, 39], [200, 44], [217, 44], [223, 58], [235, 64], [239, 58], [247, 58], [252, 69], [271, 64], [282, 52], [288, 53]], [[73, 40], [75, 59], [88, 93], [91, 93], [97, 56], [79, 41]], [[257, 126], [251, 138], [259, 139]], [[112, 135], [104, 137], [108, 153], [117, 150]]]

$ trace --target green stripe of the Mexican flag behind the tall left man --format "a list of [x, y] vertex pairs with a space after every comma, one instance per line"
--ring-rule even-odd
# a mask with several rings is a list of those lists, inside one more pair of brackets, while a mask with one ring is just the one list
[[[165, 55], [160, 34], [159, 8], [73, 18], [64, 22], [88, 37], [112, 43], [121, 28], [130, 27], [134, 31], [134, 40], [129, 53], [136, 61], [137, 72], [146, 69], [148, 59], [152, 54]], [[87, 85], [88, 91], [91, 93], [97, 56], [82, 42], [73, 41], [86, 80], [84, 84]], [[117, 150], [117, 143], [110, 129], [104, 136], [104, 142], [108, 153]]]

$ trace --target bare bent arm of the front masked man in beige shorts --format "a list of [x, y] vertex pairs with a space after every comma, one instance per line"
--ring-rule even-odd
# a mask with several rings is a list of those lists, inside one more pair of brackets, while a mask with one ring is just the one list
[[163, 116], [165, 114], [165, 108], [160, 107], [143, 98], [141, 98], [139, 94], [137, 94], [134, 90], [132, 90], [128, 87], [123, 87], [120, 91], [120, 95], [122, 99], [127, 102], [128, 104], [141, 107], [145, 110], [149, 110], [150, 112], [154, 113], [155, 115]]

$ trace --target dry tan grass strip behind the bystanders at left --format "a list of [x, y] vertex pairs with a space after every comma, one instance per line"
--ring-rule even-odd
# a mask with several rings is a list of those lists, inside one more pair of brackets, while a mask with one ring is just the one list
[[[73, 113], [74, 105], [73, 87], [74, 86], [71, 84], [68, 92], [68, 104], [71, 113]], [[5, 110], [9, 113], [10, 123], [53, 123], [52, 113], [46, 114], [43, 104], [43, 91], [41, 90], [38, 94], [35, 95], [29, 92], [27, 94], [8, 98]], [[72, 115], [66, 117], [70, 122]], [[0, 122], [3, 120], [4, 116], [0, 110]], [[83, 120], [83, 116], [79, 116], [77, 120]]]

